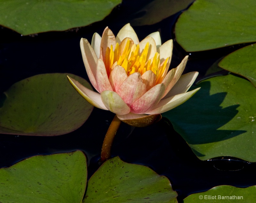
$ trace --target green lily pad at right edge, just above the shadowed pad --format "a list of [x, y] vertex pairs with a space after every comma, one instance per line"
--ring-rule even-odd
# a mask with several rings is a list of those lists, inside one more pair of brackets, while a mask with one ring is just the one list
[[218, 64], [220, 67], [244, 76], [256, 87], [256, 44], [232, 52]]

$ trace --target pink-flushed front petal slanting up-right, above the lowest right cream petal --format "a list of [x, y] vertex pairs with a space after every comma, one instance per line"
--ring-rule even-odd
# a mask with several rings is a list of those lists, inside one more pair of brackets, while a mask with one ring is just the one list
[[[160, 83], [148, 90], [142, 97], [131, 105], [131, 112], [142, 114], [153, 109], [164, 94], [164, 84]], [[153, 113], [146, 113], [153, 114]]]

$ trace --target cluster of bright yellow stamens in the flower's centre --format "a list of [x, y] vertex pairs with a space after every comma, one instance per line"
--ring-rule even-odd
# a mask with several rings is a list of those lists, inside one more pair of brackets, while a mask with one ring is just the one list
[[122, 53], [120, 53], [121, 50], [119, 49], [118, 43], [116, 43], [115, 50], [113, 50], [112, 45], [110, 48], [107, 47], [105, 55], [105, 66], [108, 76], [116, 65], [120, 65], [124, 68], [128, 76], [134, 72], [138, 72], [142, 75], [146, 71], [151, 70], [156, 75], [156, 84], [161, 83], [164, 78], [165, 68], [169, 57], [165, 59], [162, 64], [160, 64], [160, 54], [156, 52], [153, 58], [146, 61], [149, 42], [146, 43], [146, 46], [141, 54], [139, 53], [139, 44], [133, 44], [132, 47], [129, 48], [130, 43], [131, 41], [127, 40], [124, 51]]

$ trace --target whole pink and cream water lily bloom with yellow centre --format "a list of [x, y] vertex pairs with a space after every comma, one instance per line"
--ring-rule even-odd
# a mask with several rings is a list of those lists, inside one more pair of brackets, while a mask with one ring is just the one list
[[68, 80], [93, 106], [116, 113], [130, 125], [148, 125], [199, 90], [187, 92], [198, 72], [181, 75], [188, 56], [168, 72], [172, 46], [172, 40], [161, 44], [159, 32], [139, 42], [130, 24], [116, 36], [106, 27], [102, 37], [93, 35], [92, 44], [80, 41], [86, 72], [98, 92]]

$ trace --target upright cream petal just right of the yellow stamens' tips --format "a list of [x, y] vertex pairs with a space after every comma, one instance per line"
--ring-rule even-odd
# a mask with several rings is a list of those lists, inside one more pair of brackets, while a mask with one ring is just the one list
[[172, 39], [170, 39], [167, 42], [163, 43], [162, 46], [159, 47], [159, 49], [157, 49], [157, 52], [160, 54], [160, 64], [163, 63], [165, 59], [170, 57], [169, 62], [166, 65], [167, 70], [169, 69], [172, 59], [172, 48], [173, 42]]

